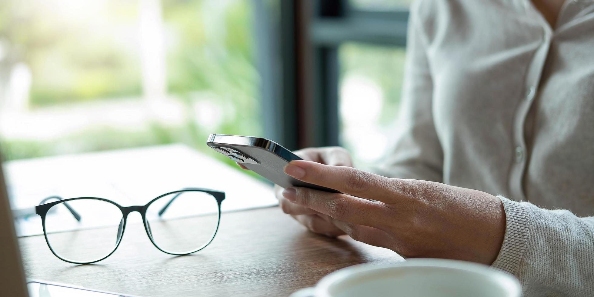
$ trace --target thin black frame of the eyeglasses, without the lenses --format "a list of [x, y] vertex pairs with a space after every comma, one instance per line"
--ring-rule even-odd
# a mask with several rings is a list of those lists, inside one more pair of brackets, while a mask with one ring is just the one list
[[[205, 193], [210, 194], [211, 196], [213, 196], [216, 199], [216, 201], [217, 201], [217, 207], [218, 207], [218, 210], [219, 210], [219, 212], [218, 212], [219, 218], [217, 219], [217, 227], [216, 227], [216, 229], [214, 229], [214, 233], [213, 233], [213, 236], [210, 238], [210, 241], [208, 241], [206, 244], [204, 244], [202, 247], [196, 249], [195, 251], [184, 252], [184, 253], [168, 252], [168, 251], [165, 251], [164, 249], [160, 248], [159, 245], [157, 245], [154, 242], [153, 236], [151, 235], [151, 231], [149, 230], [150, 227], [148, 226], [148, 220], [146, 218], [146, 211], [149, 208], [149, 206], [154, 201], [159, 200], [159, 198], [163, 198], [163, 197], [165, 197], [167, 195], [178, 193], [178, 195], [175, 195], [173, 198], [171, 198], [171, 200], [169, 200], [169, 202], [167, 204], [165, 204], [165, 206], [163, 206], [163, 208], [159, 211], [159, 217], [160, 217], [163, 214], [163, 212], [169, 207], [169, 204], [171, 204], [173, 202], [173, 200], [175, 200], [175, 198], [177, 198], [179, 196], [179, 194], [181, 194], [182, 192], [205, 192]], [[52, 254], [55, 255], [56, 257], [58, 257], [60, 260], [65, 261], [65, 262], [68, 262], [68, 263], [72, 263], [72, 264], [91, 264], [91, 263], [96, 263], [96, 262], [105, 260], [110, 255], [112, 255], [116, 251], [116, 249], [118, 249], [119, 244], [122, 242], [122, 238], [124, 238], [124, 232], [126, 230], [126, 222], [127, 222], [127, 219], [128, 219], [128, 214], [130, 214], [130, 213], [132, 213], [134, 211], [138, 211], [138, 213], [140, 213], [140, 216], [143, 219], [144, 230], [146, 231], [147, 236], [149, 236], [149, 239], [153, 243], [154, 247], [156, 247], [157, 249], [159, 249], [159, 251], [165, 252], [166, 254], [170, 254], [170, 255], [189, 255], [189, 254], [192, 254], [194, 252], [200, 251], [203, 248], [206, 248], [211, 242], [213, 242], [214, 237], [217, 235], [217, 231], [219, 230], [219, 225], [220, 225], [220, 220], [221, 220], [221, 203], [223, 202], [223, 200], [225, 200], [225, 192], [223, 192], [223, 191], [217, 191], [217, 190], [214, 190], [214, 189], [206, 189], [206, 188], [184, 188], [184, 189], [180, 189], [180, 190], [177, 190], [177, 191], [172, 191], [172, 192], [167, 192], [165, 194], [162, 194], [159, 197], [156, 197], [153, 200], [149, 201], [149, 203], [145, 204], [144, 206], [128, 206], [128, 207], [121, 206], [118, 203], [116, 203], [115, 201], [112, 201], [112, 200], [109, 200], [109, 199], [106, 199], [106, 198], [100, 198], [100, 197], [75, 197], [75, 198], [62, 199], [61, 197], [58, 197], [58, 196], [51, 196], [51, 197], [45, 198], [43, 201], [48, 200], [50, 198], [57, 198], [58, 201], [53, 201], [53, 202], [49, 202], [49, 203], [39, 204], [39, 205], [35, 206], [35, 213], [37, 213], [41, 217], [42, 228], [43, 228], [43, 236], [45, 237], [45, 241], [48, 244], [48, 247], [49, 247], [50, 251], [52, 251]], [[122, 219], [121, 219], [121, 223], [120, 223], [120, 225], [122, 226], [121, 227], [122, 228], [121, 229], [121, 234], [118, 234], [119, 235], [118, 242], [116, 243], [115, 247], [113, 248], [113, 251], [111, 251], [105, 257], [100, 258], [99, 260], [94, 260], [94, 261], [89, 261], [89, 262], [76, 262], [76, 261], [71, 261], [71, 260], [67, 260], [65, 258], [60, 257], [53, 250], [52, 245], [49, 243], [48, 232], [46, 232], [46, 228], [45, 228], [45, 218], [46, 218], [46, 216], [48, 214], [48, 211], [50, 210], [50, 208], [52, 208], [56, 204], [61, 204], [61, 203], [64, 204], [64, 206], [68, 208], [68, 210], [70, 211], [70, 213], [72, 213], [72, 216], [74, 216], [74, 218], [76, 220], [80, 221], [81, 220], [80, 214], [78, 214], [72, 207], [70, 207], [67, 204], [67, 202], [68, 201], [73, 201], [73, 200], [82, 200], [82, 199], [91, 199], [91, 200], [105, 201], [105, 202], [108, 202], [108, 203], [111, 203], [111, 204], [115, 205], [122, 212]]]

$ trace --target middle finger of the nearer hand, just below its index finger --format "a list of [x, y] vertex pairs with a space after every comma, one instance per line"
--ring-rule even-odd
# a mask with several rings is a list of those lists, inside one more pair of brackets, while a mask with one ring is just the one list
[[283, 197], [295, 204], [345, 222], [381, 228], [389, 221], [387, 208], [382, 204], [347, 194], [290, 187], [283, 191]]

